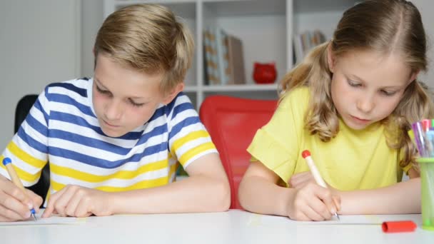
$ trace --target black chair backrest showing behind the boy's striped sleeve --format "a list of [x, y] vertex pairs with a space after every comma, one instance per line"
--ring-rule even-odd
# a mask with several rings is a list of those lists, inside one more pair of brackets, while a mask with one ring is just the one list
[[[38, 95], [30, 94], [23, 96], [16, 104], [15, 109], [15, 125], [14, 125], [14, 133], [19, 130], [21, 123], [26, 119], [26, 116], [29, 114], [30, 108], [34, 105], [35, 101], [38, 99]], [[42, 169], [41, 178], [35, 185], [31, 185], [28, 187], [34, 193], [41, 196], [42, 200], [45, 200], [46, 194], [48, 193], [50, 186], [50, 168], [49, 163]]]

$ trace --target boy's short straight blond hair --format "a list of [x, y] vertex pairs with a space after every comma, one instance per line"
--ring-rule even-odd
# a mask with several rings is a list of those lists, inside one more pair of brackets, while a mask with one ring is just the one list
[[191, 66], [193, 36], [166, 6], [134, 4], [113, 12], [96, 36], [98, 54], [148, 74], [164, 72], [161, 91], [183, 82]]

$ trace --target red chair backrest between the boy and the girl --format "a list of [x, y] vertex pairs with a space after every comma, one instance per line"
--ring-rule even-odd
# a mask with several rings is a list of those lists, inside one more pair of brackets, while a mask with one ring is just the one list
[[199, 111], [202, 123], [213, 139], [231, 185], [231, 208], [242, 209], [238, 185], [246, 172], [250, 154], [246, 151], [256, 131], [273, 116], [277, 101], [208, 96]]

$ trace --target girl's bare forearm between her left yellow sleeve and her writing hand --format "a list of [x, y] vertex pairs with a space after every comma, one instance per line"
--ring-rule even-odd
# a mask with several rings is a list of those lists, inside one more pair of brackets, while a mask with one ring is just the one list
[[260, 176], [249, 176], [241, 181], [238, 199], [248, 211], [288, 216], [288, 202], [295, 193], [293, 188], [283, 188]]

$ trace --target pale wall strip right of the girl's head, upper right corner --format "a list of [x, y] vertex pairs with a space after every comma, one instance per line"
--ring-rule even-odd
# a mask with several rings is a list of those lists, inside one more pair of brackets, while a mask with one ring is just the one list
[[413, 0], [415, 6], [418, 7], [422, 15], [423, 25], [428, 34], [428, 72], [420, 76], [420, 80], [430, 86], [434, 90], [434, 1], [432, 0]]

